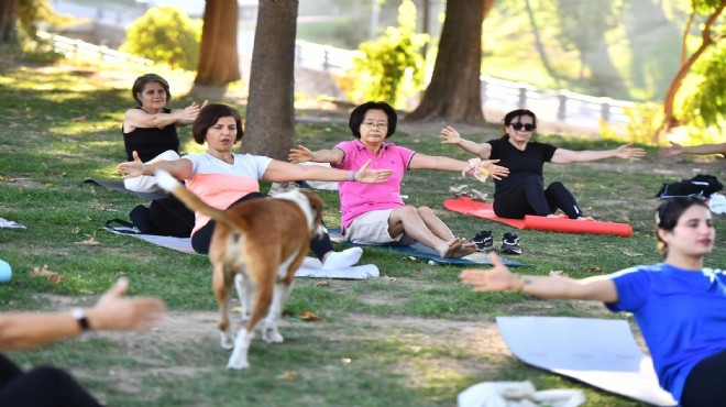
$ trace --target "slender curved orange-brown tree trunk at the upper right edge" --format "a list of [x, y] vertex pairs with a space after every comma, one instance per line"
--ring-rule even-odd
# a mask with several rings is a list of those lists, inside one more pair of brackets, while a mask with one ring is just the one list
[[[681, 68], [675, 73], [675, 77], [673, 77], [673, 80], [671, 81], [671, 85], [668, 87], [668, 94], [666, 94], [666, 100], [663, 101], [663, 123], [661, 124], [660, 129], [653, 134], [653, 141], [658, 142], [660, 136], [663, 134], [667, 134], [672, 128], [676, 128], [681, 125], [680, 121], [678, 118], [675, 118], [674, 112], [673, 112], [673, 103], [675, 101], [675, 94], [681, 89], [681, 85], [683, 84], [683, 79], [685, 76], [689, 74], [691, 70], [691, 67], [693, 67], [693, 64], [695, 64], [696, 61], [701, 57], [704, 51], [711, 45], [715, 44], [716, 42], [721, 41], [724, 35], [719, 34], [716, 35], [715, 37], [711, 37], [711, 28], [714, 25], [721, 13], [724, 11], [724, 8], [726, 8], [726, 1], [722, 2], [721, 6], [708, 16], [708, 20], [706, 20], [703, 31], [701, 32], [701, 45], [691, 55], [684, 64], [681, 65]], [[684, 33], [683, 35], [688, 35], [688, 33]], [[685, 41], [683, 42], [685, 44]]]

